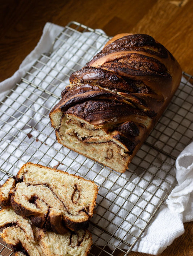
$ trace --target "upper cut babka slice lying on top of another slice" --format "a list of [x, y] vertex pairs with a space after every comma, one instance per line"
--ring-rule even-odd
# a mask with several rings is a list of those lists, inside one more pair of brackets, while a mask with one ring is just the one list
[[0, 188], [0, 204], [29, 217], [39, 228], [59, 234], [87, 228], [93, 216], [98, 188], [76, 175], [26, 163]]

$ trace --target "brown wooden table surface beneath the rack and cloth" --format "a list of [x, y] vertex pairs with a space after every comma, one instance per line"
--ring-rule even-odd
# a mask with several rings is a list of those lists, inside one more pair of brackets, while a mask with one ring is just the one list
[[[176, 57], [182, 70], [193, 74], [192, 0], [7, 0], [1, 3], [0, 19], [0, 81], [12, 76], [34, 49], [47, 21], [65, 26], [72, 20], [101, 28], [109, 36], [123, 32], [150, 34]], [[193, 223], [184, 226], [184, 235], [161, 256], [193, 255]]]

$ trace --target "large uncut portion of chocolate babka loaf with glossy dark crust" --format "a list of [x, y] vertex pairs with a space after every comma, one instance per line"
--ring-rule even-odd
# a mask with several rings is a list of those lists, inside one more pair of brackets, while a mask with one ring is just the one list
[[82, 69], [50, 112], [58, 142], [124, 172], [181, 80], [172, 54], [146, 34], [119, 34]]

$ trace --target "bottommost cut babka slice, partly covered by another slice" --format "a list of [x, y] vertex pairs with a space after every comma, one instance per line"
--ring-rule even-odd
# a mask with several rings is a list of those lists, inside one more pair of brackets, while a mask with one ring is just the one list
[[87, 256], [92, 245], [91, 233], [79, 230], [60, 235], [35, 227], [11, 207], [0, 211], [1, 237], [16, 256]]

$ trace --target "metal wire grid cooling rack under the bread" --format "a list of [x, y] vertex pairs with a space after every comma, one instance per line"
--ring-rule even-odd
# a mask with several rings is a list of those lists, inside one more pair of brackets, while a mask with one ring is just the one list
[[[40, 163], [92, 179], [99, 187], [89, 226], [91, 254], [127, 255], [176, 184], [175, 159], [193, 135], [193, 77], [182, 82], [167, 110], [124, 174], [103, 167], [55, 139], [49, 111], [72, 72], [80, 69], [109, 37], [76, 22], [56, 37], [0, 105], [0, 180], [26, 162]], [[0, 255], [14, 255], [1, 241]]]

